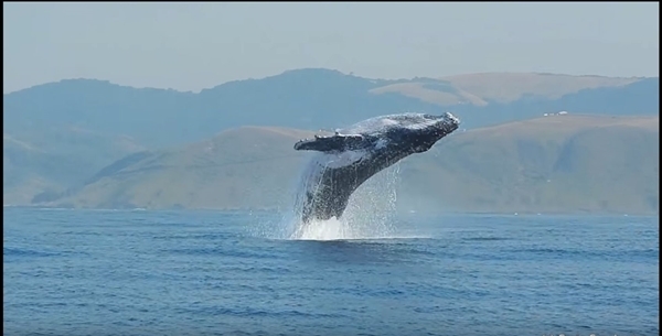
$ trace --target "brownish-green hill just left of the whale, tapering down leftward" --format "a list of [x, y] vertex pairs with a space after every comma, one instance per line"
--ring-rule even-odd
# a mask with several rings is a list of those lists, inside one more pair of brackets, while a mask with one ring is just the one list
[[102, 208], [287, 206], [289, 199], [282, 195], [305, 156], [292, 145], [312, 134], [243, 127], [207, 141], [138, 153], [102, 170], [72, 196], [53, 204]]

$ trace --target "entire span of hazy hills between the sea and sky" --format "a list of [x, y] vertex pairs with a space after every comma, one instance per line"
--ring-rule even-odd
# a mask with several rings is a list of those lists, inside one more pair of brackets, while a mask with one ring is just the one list
[[[299, 138], [378, 115], [450, 110], [469, 130], [403, 162], [404, 207], [656, 212], [656, 77], [381, 80], [300, 69], [199, 94], [70, 79], [4, 95], [3, 108], [4, 204], [289, 206], [282, 194], [307, 155], [292, 150]], [[554, 117], [560, 123], [540, 118], [559, 110], [570, 112]]]

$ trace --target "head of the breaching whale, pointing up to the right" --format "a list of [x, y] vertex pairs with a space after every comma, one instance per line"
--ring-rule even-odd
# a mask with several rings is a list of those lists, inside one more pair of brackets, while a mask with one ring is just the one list
[[394, 124], [387, 127], [384, 132], [389, 147], [410, 153], [428, 151], [441, 138], [457, 130], [460, 124], [460, 120], [449, 112], [441, 116], [406, 113], [385, 118], [394, 121]]

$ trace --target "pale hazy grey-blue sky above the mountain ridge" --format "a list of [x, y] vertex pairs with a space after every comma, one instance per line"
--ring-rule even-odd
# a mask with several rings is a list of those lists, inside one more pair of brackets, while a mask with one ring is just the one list
[[660, 4], [3, 3], [3, 91], [63, 78], [194, 90], [302, 67], [659, 76]]

